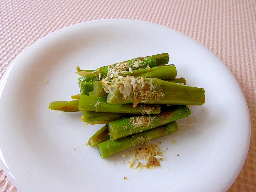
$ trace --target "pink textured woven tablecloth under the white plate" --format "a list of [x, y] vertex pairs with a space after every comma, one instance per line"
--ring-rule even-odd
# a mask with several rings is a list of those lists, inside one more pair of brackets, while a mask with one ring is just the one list
[[[233, 73], [251, 117], [247, 159], [229, 192], [256, 191], [255, 0], [1, 0], [0, 78], [32, 43], [60, 28], [105, 18], [157, 23], [178, 30], [216, 54]], [[0, 192], [18, 191], [0, 168]]]

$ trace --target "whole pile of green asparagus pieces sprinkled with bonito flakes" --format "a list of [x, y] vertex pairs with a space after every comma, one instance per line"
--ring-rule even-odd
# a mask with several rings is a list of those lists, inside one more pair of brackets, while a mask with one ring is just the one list
[[162, 53], [96, 70], [77, 67], [80, 94], [53, 101], [49, 108], [81, 111], [83, 122], [105, 124], [87, 143], [98, 145], [102, 158], [176, 132], [176, 120], [191, 115], [188, 105], [204, 104], [205, 94], [177, 78], [168, 62], [168, 53]]

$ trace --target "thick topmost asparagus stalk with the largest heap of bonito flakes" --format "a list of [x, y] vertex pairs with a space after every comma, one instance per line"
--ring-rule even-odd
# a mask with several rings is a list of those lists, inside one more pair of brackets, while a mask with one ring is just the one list
[[[135, 86], [134, 86], [135, 85]], [[137, 103], [202, 105], [203, 88], [163, 81], [156, 78], [118, 77], [113, 79], [107, 96], [110, 104]]]

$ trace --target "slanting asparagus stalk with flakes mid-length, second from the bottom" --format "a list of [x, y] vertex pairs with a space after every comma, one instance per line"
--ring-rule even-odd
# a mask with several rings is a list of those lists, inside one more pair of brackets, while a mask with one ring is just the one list
[[174, 105], [168, 108], [169, 111], [163, 111], [159, 115], [140, 115], [109, 122], [108, 129], [111, 140], [143, 132], [191, 115], [187, 106]]

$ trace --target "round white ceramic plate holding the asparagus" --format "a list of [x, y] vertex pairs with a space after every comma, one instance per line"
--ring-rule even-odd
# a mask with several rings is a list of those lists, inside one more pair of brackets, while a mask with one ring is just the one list
[[[155, 140], [168, 148], [158, 168], [130, 169], [120, 154], [101, 159], [97, 148], [84, 146], [101, 125], [83, 129], [80, 113], [48, 109], [79, 93], [76, 66], [96, 69], [163, 52], [178, 77], [205, 89], [206, 103], [190, 107], [178, 132]], [[21, 192], [226, 191], [250, 142], [244, 95], [221, 60], [182, 33], [142, 21], [89, 21], [47, 35], [17, 57], [0, 96], [1, 167]]]

